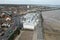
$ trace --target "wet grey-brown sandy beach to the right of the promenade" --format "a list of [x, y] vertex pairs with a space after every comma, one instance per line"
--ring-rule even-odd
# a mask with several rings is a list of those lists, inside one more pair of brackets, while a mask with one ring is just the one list
[[43, 12], [45, 40], [60, 40], [60, 10]]

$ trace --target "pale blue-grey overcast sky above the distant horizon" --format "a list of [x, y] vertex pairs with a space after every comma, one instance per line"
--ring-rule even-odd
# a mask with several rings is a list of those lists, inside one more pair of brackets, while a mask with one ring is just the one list
[[60, 5], [60, 0], [0, 0], [0, 4], [50, 4], [50, 5]]

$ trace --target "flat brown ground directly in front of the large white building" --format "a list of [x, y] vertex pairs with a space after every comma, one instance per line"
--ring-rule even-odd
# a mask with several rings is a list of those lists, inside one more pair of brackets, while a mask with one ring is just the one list
[[21, 33], [17, 36], [15, 40], [33, 40], [34, 31], [31, 30], [21, 30]]

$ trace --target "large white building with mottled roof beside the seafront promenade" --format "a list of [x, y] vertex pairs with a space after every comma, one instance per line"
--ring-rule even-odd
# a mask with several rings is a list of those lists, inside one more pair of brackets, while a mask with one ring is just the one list
[[37, 18], [39, 16], [38, 13], [28, 13], [24, 16], [24, 18], [26, 19], [23, 22], [23, 28], [24, 29], [33, 29], [35, 28], [35, 26], [38, 24], [39, 19]]

